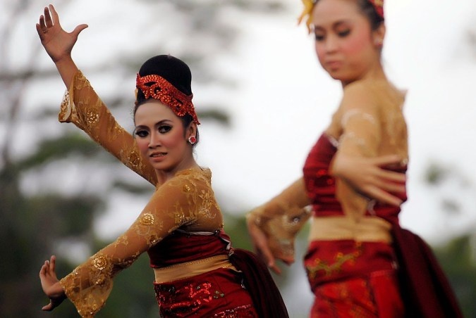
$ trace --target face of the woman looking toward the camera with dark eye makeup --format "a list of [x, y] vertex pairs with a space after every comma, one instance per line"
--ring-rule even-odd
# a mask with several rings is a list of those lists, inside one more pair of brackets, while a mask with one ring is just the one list
[[142, 157], [147, 158], [155, 170], [173, 175], [188, 168], [193, 155], [187, 139], [195, 136], [194, 124], [184, 129], [182, 120], [169, 106], [152, 98], [137, 108], [134, 120], [135, 139]]

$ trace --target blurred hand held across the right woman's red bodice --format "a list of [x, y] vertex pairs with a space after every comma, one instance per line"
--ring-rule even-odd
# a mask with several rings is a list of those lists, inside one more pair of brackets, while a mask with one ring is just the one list
[[340, 154], [334, 160], [332, 174], [348, 182], [355, 191], [365, 196], [398, 206], [402, 201], [392, 193], [405, 191], [405, 174], [383, 167], [400, 162], [398, 155], [362, 158]]

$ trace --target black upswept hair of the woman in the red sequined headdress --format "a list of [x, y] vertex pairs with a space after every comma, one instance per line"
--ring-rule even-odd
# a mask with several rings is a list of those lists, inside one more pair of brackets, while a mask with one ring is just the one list
[[[185, 62], [174, 56], [159, 55], [149, 58], [140, 67], [139, 75], [141, 77], [146, 75], [159, 75], [160, 77], [164, 77], [164, 79], [183, 94], [192, 95], [192, 72], [190, 72], [190, 68]], [[133, 111], [134, 115], [138, 107], [149, 98], [145, 98], [144, 93], [138, 89], [137, 101], [135, 101]], [[179, 118], [182, 120], [184, 128], [187, 128], [190, 122], [193, 122], [193, 117], [189, 114], [185, 114], [185, 116]], [[198, 129], [197, 136], [195, 137], [197, 138], [197, 142], [193, 146], [195, 146], [199, 140]]]

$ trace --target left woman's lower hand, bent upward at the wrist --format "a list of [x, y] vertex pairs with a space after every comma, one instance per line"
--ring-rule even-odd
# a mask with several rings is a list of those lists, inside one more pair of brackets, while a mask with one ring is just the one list
[[44, 293], [49, 298], [49, 304], [44, 305], [42, 310], [54, 310], [55, 307], [58, 307], [66, 299], [63, 287], [61, 287], [58, 278], [56, 278], [55, 267], [56, 257], [52, 255], [50, 260], [45, 261], [42, 269], [39, 270], [39, 280], [42, 282]]

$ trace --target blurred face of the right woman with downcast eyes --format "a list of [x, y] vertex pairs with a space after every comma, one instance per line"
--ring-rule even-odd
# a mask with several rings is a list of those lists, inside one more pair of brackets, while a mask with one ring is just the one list
[[317, 58], [332, 78], [353, 82], [380, 63], [379, 32], [372, 32], [357, 1], [320, 0], [312, 11], [312, 22]]

